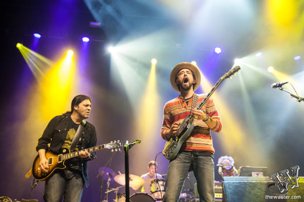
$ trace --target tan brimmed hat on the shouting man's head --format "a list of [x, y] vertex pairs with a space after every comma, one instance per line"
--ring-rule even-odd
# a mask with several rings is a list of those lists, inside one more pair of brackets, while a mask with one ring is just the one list
[[195, 76], [195, 80], [196, 80], [196, 85], [195, 85], [195, 88], [193, 89], [193, 91], [196, 91], [201, 84], [201, 73], [200, 73], [199, 68], [197, 68], [195, 65], [193, 65], [191, 63], [179, 63], [172, 69], [171, 74], [170, 74], [170, 81], [171, 81], [171, 85], [174, 88], [174, 90], [176, 90], [177, 92], [180, 92], [178, 90], [178, 86], [175, 83], [175, 79], [176, 79], [176, 74], [181, 69], [189, 69], [193, 72], [193, 74]]

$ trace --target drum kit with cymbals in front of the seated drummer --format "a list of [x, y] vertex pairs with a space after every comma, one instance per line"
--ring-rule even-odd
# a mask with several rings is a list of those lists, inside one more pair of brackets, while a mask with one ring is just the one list
[[[115, 202], [125, 202], [126, 201], [125, 194], [118, 193], [118, 189], [126, 185], [126, 181], [125, 181], [126, 175], [125, 174], [117, 175], [114, 171], [112, 171], [107, 167], [99, 168], [99, 172], [103, 173], [103, 179], [107, 181], [107, 190], [105, 193], [108, 194], [111, 191], [115, 191]], [[122, 186], [109, 189], [110, 182], [113, 182], [113, 180]], [[133, 190], [137, 190], [143, 184], [144, 184], [144, 180], [141, 177], [132, 174], [129, 175], [129, 185]], [[150, 182], [150, 187], [151, 187], [150, 193], [145, 193], [145, 192], [135, 193], [130, 196], [130, 201], [131, 202], [162, 201], [165, 194], [165, 180], [155, 179]], [[107, 201], [107, 200], [103, 200], [103, 201]]]

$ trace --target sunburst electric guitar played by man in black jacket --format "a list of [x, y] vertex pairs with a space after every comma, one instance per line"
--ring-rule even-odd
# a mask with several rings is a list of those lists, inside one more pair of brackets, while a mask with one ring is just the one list
[[[112, 151], [113, 149], [115, 149], [117, 151], [117, 149], [120, 150], [122, 146], [123, 146], [122, 142], [118, 140], [117, 142], [114, 141], [108, 144], [101, 144], [99, 146], [87, 148], [87, 151], [91, 153], [92, 151], [97, 151], [103, 148], [109, 148], [112, 149]], [[39, 160], [39, 155], [37, 155], [37, 157], [33, 162], [33, 167], [32, 167], [33, 177], [37, 180], [42, 180], [42, 181], [49, 179], [56, 169], [66, 169], [65, 161], [74, 157], [78, 157], [79, 153], [80, 150], [70, 153], [70, 150], [68, 148], [62, 148], [60, 150], [60, 155], [55, 155], [51, 151], [46, 151], [46, 158], [49, 160], [49, 169], [47, 173], [38, 170], [40, 160]]]

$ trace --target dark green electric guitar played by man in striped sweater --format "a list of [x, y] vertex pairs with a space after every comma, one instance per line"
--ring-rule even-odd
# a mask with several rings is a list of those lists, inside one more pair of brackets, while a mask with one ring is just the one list
[[[209, 97], [212, 95], [212, 93], [215, 91], [215, 89], [219, 86], [219, 84], [226, 78], [230, 78], [231, 75], [235, 74], [238, 72], [241, 68], [239, 66], [234, 67], [231, 69], [229, 72], [225, 73], [218, 81], [217, 83], [213, 86], [213, 88], [210, 90], [210, 92], [206, 95], [206, 97], [203, 99], [203, 101], [200, 103], [200, 105], [196, 108], [196, 110], [200, 110]], [[177, 132], [174, 136], [170, 138], [169, 141], [166, 142], [164, 150], [163, 150], [163, 155], [166, 157], [168, 160], [173, 160], [176, 155], [178, 154], [178, 151], [182, 145], [182, 143], [187, 139], [189, 134], [194, 128], [193, 124], [194, 117], [190, 114], [188, 115], [183, 122], [179, 125]]]

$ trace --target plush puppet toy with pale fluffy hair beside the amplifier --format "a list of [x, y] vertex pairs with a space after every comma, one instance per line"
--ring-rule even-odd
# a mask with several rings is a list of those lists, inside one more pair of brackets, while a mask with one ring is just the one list
[[232, 157], [224, 156], [218, 159], [217, 162], [218, 173], [222, 177], [238, 175], [237, 169], [234, 167], [234, 160]]

